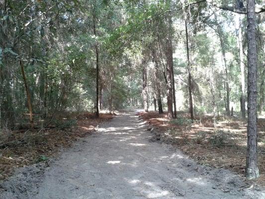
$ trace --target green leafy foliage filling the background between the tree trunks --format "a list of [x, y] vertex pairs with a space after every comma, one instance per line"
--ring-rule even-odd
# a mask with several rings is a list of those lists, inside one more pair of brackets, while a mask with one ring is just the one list
[[[142, 60], [148, 65], [148, 94], [153, 101], [156, 81], [166, 105], [168, 17], [174, 28], [172, 43], [179, 107], [188, 107], [187, 63], [183, 12], [188, 17], [192, 94], [195, 113], [222, 113], [225, 107], [223, 39], [230, 81], [230, 101], [239, 110], [240, 68], [234, 15], [217, 12], [209, 4], [183, 6], [193, 1], [139, 0], [8, 0], [0, 14], [0, 124], [14, 126], [28, 119], [24, 79], [37, 119], [56, 111], [92, 111], [95, 104], [95, 44], [99, 50], [99, 87], [103, 107], [110, 109], [142, 103]], [[196, 5], [196, 6], [195, 6]], [[182, 10], [184, 8], [184, 10]], [[176, 10], [176, 11], [170, 11]], [[95, 21], [93, 21], [93, 18]], [[261, 18], [262, 19], [262, 18]], [[243, 17], [242, 31], [246, 31]], [[264, 101], [262, 20], [258, 34], [259, 102]], [[94, 24], [95, 22], [95, 24]], [[93, 25], [95, 25], [96, 36]], [[220, 32], [217, 31], [218, 27]], [[228, 28], [229, 27], [229, 28]], [[243, 36], [244, 52], [247, 42]], [[157, 53], [158, 80], [154, 78], [153, 50]], [[246, 58], [244, 64], [246, 65]], [[166, 74], [165, 74], [166, 75]], [[246, 77], [246, 74], [245, 74]], [[261, 109], [265, 106], [261, 104]], [[179, 123], [189, 123], [178, 119]]]

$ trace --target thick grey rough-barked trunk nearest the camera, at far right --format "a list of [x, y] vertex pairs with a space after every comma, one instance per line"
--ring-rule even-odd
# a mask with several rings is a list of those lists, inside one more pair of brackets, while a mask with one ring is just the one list
[[248, 0], [248, 144], [246, 177], [259, 178], [258, 135], [257, 135], [257, 42], [256, 42], [255, 0]]

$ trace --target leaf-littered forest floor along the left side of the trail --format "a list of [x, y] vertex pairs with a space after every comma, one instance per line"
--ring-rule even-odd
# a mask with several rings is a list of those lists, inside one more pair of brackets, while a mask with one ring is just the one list
[[94, 118], [92, 113], [71, 116], [65, 113], [55, 117], [56, 123], [45, 128], [32, 130], [20, 126], [20, 129], [0, 133], [0, 181], [19, 167], [46, 162], [63, 147], [70, 147], [74, 141], [90, 135], [99, 123], [111, 119], [112, 115], [104, 113]]

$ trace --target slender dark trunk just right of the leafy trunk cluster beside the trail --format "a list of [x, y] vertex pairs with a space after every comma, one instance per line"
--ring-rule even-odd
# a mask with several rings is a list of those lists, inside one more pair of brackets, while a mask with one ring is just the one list
[[191, 89], [191, 73], [190, 73], [190, 67], [191, 67], [191, 65], [190, 65], [189, 47], [188, 47], [187, 19], [185, 19], [185, 33], [186, 33], [186, 50], [187, 50], [187, 69], [188, 69], [189, 113], [190, 113], [190, 119], [194, 119], [194, 116], [193, 116], [192, 89]]

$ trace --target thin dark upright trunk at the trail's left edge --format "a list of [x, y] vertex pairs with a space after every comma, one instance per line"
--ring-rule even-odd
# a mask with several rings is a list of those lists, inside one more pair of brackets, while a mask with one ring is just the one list
[[[94, 31], [94, 36], [95, 36], [95, 39], [96, 39], [96, 16], [95, 16], [95, 12], [94, 12], [94, 9], [93, 9], [93, 31]], [[95, 108], [96, 108], [96, 111], [95, 111], [95, 115], [96, 117], [99, 117], [99, 108], [98, 108], [98, 96], [99, 96], [99, 60], [98, 60], [98, 42], [95, 41], [95, 56], [96, 56], [96, 99], [95, 99]]]

